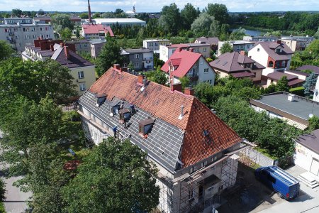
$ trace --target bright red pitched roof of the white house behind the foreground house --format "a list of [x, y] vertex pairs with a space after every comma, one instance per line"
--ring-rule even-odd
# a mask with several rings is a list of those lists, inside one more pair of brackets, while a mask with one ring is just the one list
[[172, 75], [176, 77], [184, 77], [191, 67], [201, 58], [200, 53], [193, 53], [187, 50], [176, 50], [169, 60], [164, 63], [161, 70], [168, 73], [169, 72], [169, 64], [172, 63], [174, 66], [174, 72]]

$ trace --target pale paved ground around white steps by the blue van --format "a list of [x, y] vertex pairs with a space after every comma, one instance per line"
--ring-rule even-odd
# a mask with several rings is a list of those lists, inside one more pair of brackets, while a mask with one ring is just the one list
[[[293, 176], [297, 177], [304, 170], [294, 166], [288, 170]], [[319, 187], [311, 189], [301, 182], [301, 195], [295, 200], [284, 201], [280, 204], [274, 204], [269, 209], [265, 209], [262, 213], [283, 213], [283, 212], [304, 212], [318, 213], [319, 212]]]

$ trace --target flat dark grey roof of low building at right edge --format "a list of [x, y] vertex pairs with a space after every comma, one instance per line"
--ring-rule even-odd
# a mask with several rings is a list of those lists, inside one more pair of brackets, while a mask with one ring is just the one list
[[283, 93], [273, 93], [262, 96], [261, 99], [254, 99], [255, 102], [260, 102], [266, 104], [270, 107], [274, 107], [286, 113], [298, 116], [301, 119], [308, 120], [309, 114], [319, 116], [319, 103], [313, 102], [310, 99], [295, 96], [295, 101], [290, 102], [288, 100], [288, 94]]

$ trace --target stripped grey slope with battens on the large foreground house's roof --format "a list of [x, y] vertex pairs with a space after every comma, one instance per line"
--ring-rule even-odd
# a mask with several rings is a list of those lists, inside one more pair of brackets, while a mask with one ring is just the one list
[[[128, 128], [125, 129], [124, 125], [119, 122], [118, 115], [110, 116], [110, 106], [120, 102], [120, 99], [112, 99], [106, 101], [100, 106], [96, 107], [95, 94], [87, 91], [79, 99], [79, 104], [89, 109], [91, 113], [101, 119], [108, 126], [118, 126], [118, 130], [125, 135], [130, 134], [130, 141], [146, 151], [151, 158], [162, 164], [167, 169], [174, 171], [177, 165], [177, 158], [181, 149], [181, 143], [184, 138], [184, 132], [176, 126], [172, 126], [167, 122], [156, 119], [152, 127], [152, 131], [148, 134], [147, 138], [143, 138], [138, 134], [139, 121], [145, 120], [151, 115], [141, 109], [137, 110], [136, 114], [131, 116], [128, 121]], [[129, 108], [130, 104], [124, 102], [124, 108]]]

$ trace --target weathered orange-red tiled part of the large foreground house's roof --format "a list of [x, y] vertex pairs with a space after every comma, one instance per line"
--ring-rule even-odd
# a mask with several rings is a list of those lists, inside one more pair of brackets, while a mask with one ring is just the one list
[[[155, 82], [149, 82], [143, 91], [140, 91], [140, 88], [138, 77], [111, 67], [89, 91], [97, 95], [106, 94], [110, 101], [116, 97], [135, 104], [152, 116], [184, 131], [184, 142], [181, 147], [184, 168], [241, 141], [230, 127], [196, 97], [171, 92], [169, 87]], [[184, 106], [184, 116], [179, 119], [181, 105]], [[211, 142], [206, 142], [204, 130], [208, 132]]]

